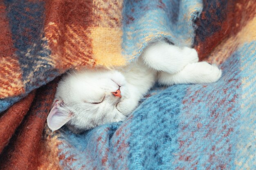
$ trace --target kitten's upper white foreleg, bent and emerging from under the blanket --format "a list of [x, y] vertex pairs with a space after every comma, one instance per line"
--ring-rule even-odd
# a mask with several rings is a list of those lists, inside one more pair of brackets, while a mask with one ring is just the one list
[[189, 47], [178, 47], [157, 42], [144, 49], [141, 57], [150, 68], [167, 73], [177, 73], [187, 64], [198, 62], [198, 53]]

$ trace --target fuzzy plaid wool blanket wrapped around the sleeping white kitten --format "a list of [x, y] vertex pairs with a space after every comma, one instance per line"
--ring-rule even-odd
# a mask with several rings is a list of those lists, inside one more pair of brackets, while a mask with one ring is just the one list
[[[124, 122], [47, 128], [59, 75], [124, 66], [158, 40], [222, 77], [156, 84]], [[255, 170], [255, 1], [0, 0], [0, 169]]]

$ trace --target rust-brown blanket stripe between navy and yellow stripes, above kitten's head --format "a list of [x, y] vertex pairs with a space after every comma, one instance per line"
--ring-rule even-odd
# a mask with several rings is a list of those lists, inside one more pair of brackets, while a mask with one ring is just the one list
[[61, 73], [78, 66], [94, 66], [88, 26], [93, 20], [92, 0], [49, 0], [46, 3], [45, 38]]

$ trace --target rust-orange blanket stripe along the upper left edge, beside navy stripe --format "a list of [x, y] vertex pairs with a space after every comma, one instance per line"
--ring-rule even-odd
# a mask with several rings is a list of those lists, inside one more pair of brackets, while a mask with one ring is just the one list
[[0, 2], [0, 99], [24, 93], [22, 71], [15, 55], [6, 7]]

